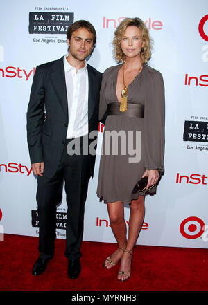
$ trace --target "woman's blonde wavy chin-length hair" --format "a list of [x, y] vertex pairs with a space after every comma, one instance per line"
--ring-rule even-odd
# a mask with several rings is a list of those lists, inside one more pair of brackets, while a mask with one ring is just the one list
[[123, 37], [125, 29], [128, 26], [137, 26], [137, 28], [141, 30], [142, 39], [144, 40], [144, 47], [141, 49], [141, 62], [148, 62], [151, 57], [151, 50], [153, 48], [152, 40], [150, 39], [148, 28], [139, 18], [125, 18], [123, 21], [121, 21], [121, 24], [117, 26], [114, 32], [114, 39], [112, 41], [112, 44], [114, 46], [114, 59], [116, 59], [116, 62], [118, 63], [124, 62], [125, 60], [125, 55], [123, 54], [123, 51], [121, 49], [121, 39]]

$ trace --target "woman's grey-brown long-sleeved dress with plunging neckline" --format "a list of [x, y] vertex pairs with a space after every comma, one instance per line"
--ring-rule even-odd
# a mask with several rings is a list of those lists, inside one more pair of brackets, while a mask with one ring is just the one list
[[[100, 120], [105, 115], [108, 104], [119, 103], [116, 96], [116, 82], [121, 66], [122, 64], [119, 64], [107, 68], [103, 73]], [[128, 103], [143, 104], [144, 118], [108, 115], [105, 121], [97, 195], [107, 203], [115, 201], [130, 203], [132, 199], [138, 198], [139, 194], [144, 195], [143, 192], [132, 194], [132, 189], [145, 170], [157, 169], [161, 172], [164, 170], [164, 82], [161, 73], [144, 64], [141, 73], [128, 86]], [[107, 132], [108, 136], [110, 132], [114, 133], [110, 141], [106, 140]], [[116, 134], [120, 134], [121, 137], [116, 138]], [[134, 147], [128, 145], [128, 139], [132, 135]], [[116, 145], [118, 139], [118, 154], [116, 150], [113, 154], [113, 145]], [[141, 151], [141, 160], [137, 157], [138, 160], [135, 158], [137, 162], [130, 162], [130, 158], [135, 156], [132, 149], [137, 149], [138, 156]], [[155, 189], [156, 187], [153, 187], [150, 192], [155, 192]]]

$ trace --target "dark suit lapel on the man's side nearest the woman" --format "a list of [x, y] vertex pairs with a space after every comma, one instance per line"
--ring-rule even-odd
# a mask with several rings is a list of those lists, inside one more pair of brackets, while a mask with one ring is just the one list
[[87, 71], [88, 71], [88, 80], [89, 80], [89, 93], [88, 93], [88, 122], [92, 117], [92, 113], [94, 111], [95, 101], [96, 101], [96, 77], [94, 75], [94, 71], [92, 70], [91, 66], [87, 64]]

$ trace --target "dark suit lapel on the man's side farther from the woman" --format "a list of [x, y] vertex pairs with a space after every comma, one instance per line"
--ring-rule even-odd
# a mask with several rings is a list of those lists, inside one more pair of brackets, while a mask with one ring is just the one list
[[50, 73], [51, 82], [53, 83], [53, 88], [58, 96], [58, 100], [62, 106], [64, 113], [68, 120], [68, 104], [67, 104], [67, 87], [64, 73], [64, 60], [63, 57], [55, 61]]

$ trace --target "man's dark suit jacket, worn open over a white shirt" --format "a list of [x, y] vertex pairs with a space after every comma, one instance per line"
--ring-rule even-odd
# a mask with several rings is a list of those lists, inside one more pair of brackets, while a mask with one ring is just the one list
[[[89, 133], [98, 130], [99, 92], [102, 73], [87, 64], [89, 77]], [[44, 112], [46, 111], [46, 120]], [[27, 111], [27, 138], [31, 163], [44, 162], [44, 176], [58, 169], [68, 127], [67, 89], [63, 57], [37, 66]], [[91, 176], [95, 156], [90, 155]]]

